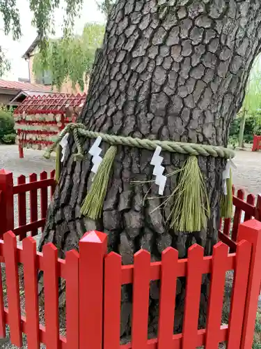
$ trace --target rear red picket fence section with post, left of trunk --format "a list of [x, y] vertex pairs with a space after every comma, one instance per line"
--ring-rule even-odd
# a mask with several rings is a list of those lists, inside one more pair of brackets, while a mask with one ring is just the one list
[[[37, 174], [30, 174], [29, 182], [26, 182], [26, 177], [21, 175], [14, 185], [13, 173], [0, 170], [0, 237], [4, 232], [12, 230], [22, 240], [28, 232], [31, 232], [31, 236], [35, 236], [38, 234], [38, 229], [45, 226], [47, 207], [56, 186], [54, 173], [53, 170], [48, 178], [47, 172], [43, 171], [40, 173], [40, 179]], [[26, 193], [29, 194], [29, 200], [26, 200]], [[16, 196], [17, 226], [14, 219]]]

